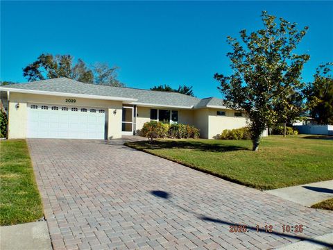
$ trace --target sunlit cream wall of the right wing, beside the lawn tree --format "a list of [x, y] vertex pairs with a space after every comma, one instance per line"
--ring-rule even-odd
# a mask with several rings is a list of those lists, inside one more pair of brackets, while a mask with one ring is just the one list
[[[224, 111], [225, 116], [216, 115], [216, 111]], [[245, 114], [243, 117], [234, 117], [234, 112], [234, 110], [209, 109], [209, 139], [217, 139], [224, 129], [242, 128], [247, 125]]]

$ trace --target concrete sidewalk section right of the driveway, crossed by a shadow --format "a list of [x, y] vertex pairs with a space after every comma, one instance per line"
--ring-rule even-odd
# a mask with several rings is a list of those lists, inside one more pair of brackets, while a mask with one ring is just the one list
[[297, 185], [289, 188], [278, 188], [265, 192], [288, 201], [293, 201], [302, 206], [312, 206], [315, 203], [333, 198], [333, 180]]

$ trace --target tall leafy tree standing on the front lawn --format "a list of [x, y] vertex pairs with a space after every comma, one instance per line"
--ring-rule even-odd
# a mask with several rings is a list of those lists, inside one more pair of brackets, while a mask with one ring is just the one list
[[[280, 119], [288, 99], [303, 88], [300, 77], [307, 54], [294, 53], [307, 27], [298, 31], [297, 24], [262, 12], [264, 28], [248, 34], [240, 31], [241, 41], [228, 37], [233, 51], [232, 74], [215, 74], [220, 81], [219, 90], [224, 94], [225, 105], [246, 111], [250, 119], [253, 151], [259, 147], [264, 130]], [[280, 108], [278, 108], [280, 106]]]

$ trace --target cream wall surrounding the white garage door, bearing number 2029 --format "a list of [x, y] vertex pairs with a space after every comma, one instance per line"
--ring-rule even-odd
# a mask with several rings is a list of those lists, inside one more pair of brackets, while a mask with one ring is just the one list
[[[76, 99], [76, 103], [66, 103], [66, 99]], [[19, 103], [19, 108], [15, 108]], [[28, 120], [27, 103], [46, 103], [64, 106], [87, 106], [108, 109], [106, 119], [108, 124], [108, 138], [121, 138], [121, 101], [97, 99], [55, 97], [41, 94], [22, 94], [10, 92], [8, 138], [26, 138], [26, 124]], [[117, 113], [114, 115], [114, 110]]]

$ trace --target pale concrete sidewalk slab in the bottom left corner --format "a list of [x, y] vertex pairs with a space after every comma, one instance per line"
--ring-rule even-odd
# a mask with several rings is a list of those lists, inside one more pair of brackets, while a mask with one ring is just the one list
[[46, 222], [31, 222], [0, 227], [1, 250], [51, 250]]

